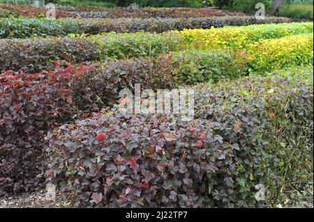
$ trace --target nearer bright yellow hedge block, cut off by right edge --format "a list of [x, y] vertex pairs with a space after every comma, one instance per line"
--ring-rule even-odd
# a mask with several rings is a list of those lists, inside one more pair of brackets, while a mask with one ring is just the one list
[[291, 35], [274, 40], [260, 40], [248, 54], [250, 72], [270, 72], [298, 65], [313, 65], [313, 33]]

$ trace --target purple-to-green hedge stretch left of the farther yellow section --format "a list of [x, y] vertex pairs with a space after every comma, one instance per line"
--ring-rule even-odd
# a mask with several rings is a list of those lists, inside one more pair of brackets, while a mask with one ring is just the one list
[[185, 45], [184, 39], [176, 33], [108, 33], [92, 38], [0, 40], [0, 70], [27, 68], [31, 72], [38, 72], [56, 59], [80, 63], [158, 56], [184, 49]]

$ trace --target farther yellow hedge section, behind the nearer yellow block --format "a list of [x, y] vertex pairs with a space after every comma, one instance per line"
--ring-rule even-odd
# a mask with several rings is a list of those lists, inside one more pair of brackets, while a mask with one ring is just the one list
[[188, 45], [196, 49], [246, 49], [260, 39], [281, 38], [287, 35], [313, 33], [313, 23], [260, 24], [223, 29], [188, 29], [174, 31], [183, 35]]

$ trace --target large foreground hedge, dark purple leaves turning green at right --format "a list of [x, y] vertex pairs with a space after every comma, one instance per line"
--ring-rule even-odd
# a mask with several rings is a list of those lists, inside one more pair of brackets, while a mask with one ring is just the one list
[[196, 86], [195, 110], [190, 122], [113, 109], [63, 125], [46, 137], [47, 181], [74, 207], [256, 207], [310, 180], [313, 85]]

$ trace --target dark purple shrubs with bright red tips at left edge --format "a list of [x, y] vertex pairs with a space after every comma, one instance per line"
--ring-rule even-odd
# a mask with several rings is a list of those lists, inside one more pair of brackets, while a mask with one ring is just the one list
[[1, 72], [0, 196], [29, 191], [43, 182], [43, 138], [75, 113], [68, 81], [82, 71]]

